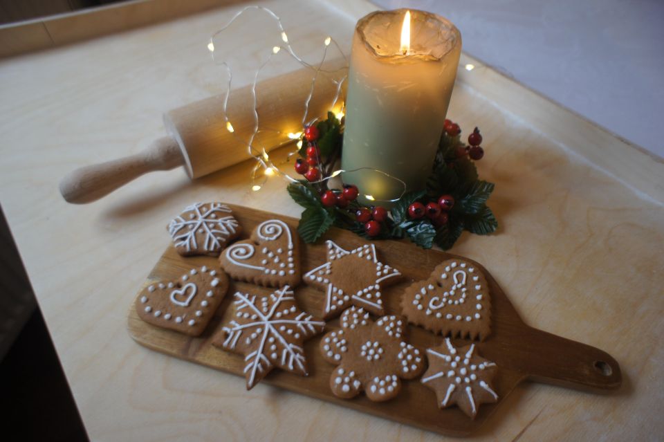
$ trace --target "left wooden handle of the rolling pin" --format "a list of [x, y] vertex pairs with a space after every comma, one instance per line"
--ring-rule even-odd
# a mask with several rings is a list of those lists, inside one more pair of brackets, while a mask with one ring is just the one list
[[96, 201], [147, 172], [170, 170], [185, 163], [178, 143], [163, 137], [136, 155], [81, 167], [60, 181], [60, 194], [68, 203]]

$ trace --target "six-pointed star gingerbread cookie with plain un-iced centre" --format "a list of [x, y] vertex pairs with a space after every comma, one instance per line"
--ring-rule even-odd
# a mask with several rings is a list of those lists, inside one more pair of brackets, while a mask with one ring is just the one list
[[338, 316], [350, 305], [384, 315], [380, 289], [396, 282], [401, 273], [376, 259], [374, 244], [351, 251], [333, 241], [326, 244], [327, 262], [304, 275], [305, 282], [326, 291], [324, 318]]

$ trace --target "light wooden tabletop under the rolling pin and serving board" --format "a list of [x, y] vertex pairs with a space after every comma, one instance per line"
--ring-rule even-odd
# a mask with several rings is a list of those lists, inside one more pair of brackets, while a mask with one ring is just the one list
[[[327, 33], [348, 48], [354, 22], [373, 8], [260, 4], [307, 57]], [[57, 192], [74, 167], [162, 136], [163, 111], [221, 90], [205, 44], [241, 7], [0, 62], [0, 201], [86, 430], [95, 441], [438, 440], [273, 387], [246, 392], [241, 378], [129, 338], [127, 310], [169, 243], [170, 217], [213, 200], [297, 215], [283, 182], [251, 192], [243, 163], [195, 183], [182, 170], [152, 174], [90, 205]], [[224, 50], [251, 59], [264, 32], [247, 28]], [[483, 131], [479, 167], [497, 183], [490, 203], [501, 228], [464, 234], [453, 252], [483, 263], [528, 324], [611, 353], [624, 379], [608, 396], [521, 385], [477, 439], [660, 439], [664, 165], [469, 60], [479, 67], [460, 74], [450, 116]], [[239, 73], [238, 84], [248, 78]]]

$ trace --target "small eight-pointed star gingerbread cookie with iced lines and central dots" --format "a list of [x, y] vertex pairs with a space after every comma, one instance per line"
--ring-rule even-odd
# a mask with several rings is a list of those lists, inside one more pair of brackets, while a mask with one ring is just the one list
[[457, 349], [449, 338], [439, 347], [427, 349], [429, 369], [422, 383], [436, 392], [439, 408], [457, 404], [471, 418], [483, 403], [494, 403], [498, 395], [491, 381], [497, 368], [493, 362], [481, 358], [475, 344]]

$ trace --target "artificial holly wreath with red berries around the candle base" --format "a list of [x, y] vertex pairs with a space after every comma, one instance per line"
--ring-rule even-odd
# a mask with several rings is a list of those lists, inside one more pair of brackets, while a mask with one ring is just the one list
[[474, 234], [495, 232], [498, 222], [486, 205], [494, 184], [480, 180], [475, 161], [481, 160], [482, 136], [477, 127], [461, 141], [461, 128], [445, 120], [427, 189], [408, 192], [391, 210], [361, 205], [354, 185], [330, 189], [333, 167], [342, 149], [342, 121], [333, 113], [304, 129], [295, 172], [305, 179], [288, 185], [293, 200], [304, 207], [297, 231], [313, 243], [332, 225], [369, 239], [408, 237], [422, 248], [434, 243], [451, 248], [463, 230]]

